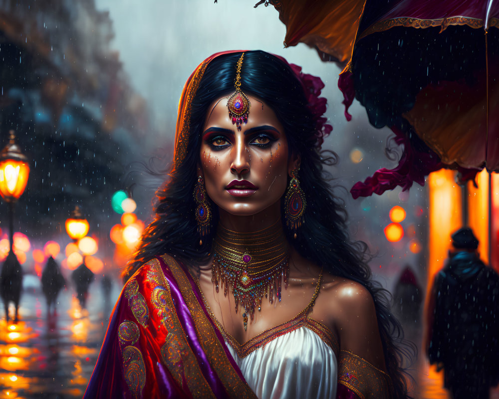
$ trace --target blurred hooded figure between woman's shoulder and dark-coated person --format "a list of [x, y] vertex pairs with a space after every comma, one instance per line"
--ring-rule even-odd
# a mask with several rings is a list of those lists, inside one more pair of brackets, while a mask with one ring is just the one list
[[393, 293], [393, 310], [400, 322], [411, 325], [419, 324], [423, 294], [416, 275], [409, 265], [400, 274]]

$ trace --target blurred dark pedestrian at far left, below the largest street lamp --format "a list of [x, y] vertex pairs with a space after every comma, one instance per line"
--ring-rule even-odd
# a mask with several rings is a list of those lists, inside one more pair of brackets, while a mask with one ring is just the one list
[[13, 302], [15, 306], [14, 322], [18, 321], [17, 311], [22, 289], [22, 268], [14, 252], [10, 250], [3, 263], [0, 274], [0, 295], [5, 307], [5, 319], [8, 323], [8, 304]]

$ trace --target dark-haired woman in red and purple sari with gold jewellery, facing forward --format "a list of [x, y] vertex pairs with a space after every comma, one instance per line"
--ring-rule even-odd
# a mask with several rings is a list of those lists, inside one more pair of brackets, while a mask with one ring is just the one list
[[300, 69], [236, 51], [187, 81], [87, 398], [406, 396], [400, 326], [323, 178], [323, 84]]

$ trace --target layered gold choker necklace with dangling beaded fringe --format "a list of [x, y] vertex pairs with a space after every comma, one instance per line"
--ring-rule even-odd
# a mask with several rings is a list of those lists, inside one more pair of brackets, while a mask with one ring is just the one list
[[289, 277], [288, 245], [282, 232], [281, 220], [270, 227], [251, 233], [229, 230], [219, 224], [213, 242], [212, 282], [219, 292], [219, 284], [227, 296], [229, 287], [236, 303], [244, 308], [243, 323], [254, 319], [261, 310], [263, 296], [273, 303], [281, 300], [281, 282], [287, 288]]

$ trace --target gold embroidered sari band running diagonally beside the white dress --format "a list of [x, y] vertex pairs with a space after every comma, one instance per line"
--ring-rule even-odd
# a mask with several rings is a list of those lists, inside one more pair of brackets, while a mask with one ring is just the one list
[[201, 308], [198, 299], [191, 289], [191, 283], [186, 273], [171, 256], [163, 255], [162, 259], [170, 268], [175, 280], [177, 280], [182, 296], [184, 297], [194, 320], [201, 346], [203, 347], [207, 358], [210, 360], [211, 366], [217, 375], [220, 376], [220, 380], [226, 391], [231, 393], [231, 396], [234, 397], [256, 398], [248, 384], [242, 383], [241, 378], [232, 367], [227, 358], [227, 354], [216, 335], [213, 325], [210, 323], [210, 320]]

